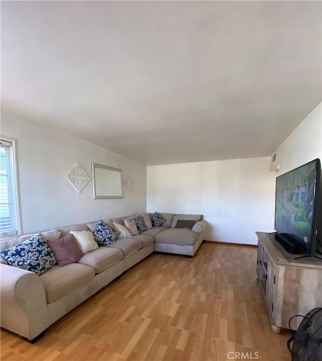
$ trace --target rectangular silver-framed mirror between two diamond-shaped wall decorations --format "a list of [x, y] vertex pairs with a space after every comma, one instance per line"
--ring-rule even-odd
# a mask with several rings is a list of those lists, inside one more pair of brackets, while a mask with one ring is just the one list
[[92, 163], [93, 198], [123, 198], [121, 169]]

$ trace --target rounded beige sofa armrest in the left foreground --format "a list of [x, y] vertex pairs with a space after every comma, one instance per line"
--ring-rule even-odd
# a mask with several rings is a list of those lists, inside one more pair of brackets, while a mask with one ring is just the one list
[[1, 327], [32, 340], [48, 326], [46, 292], [39, 276], [0, 264]]

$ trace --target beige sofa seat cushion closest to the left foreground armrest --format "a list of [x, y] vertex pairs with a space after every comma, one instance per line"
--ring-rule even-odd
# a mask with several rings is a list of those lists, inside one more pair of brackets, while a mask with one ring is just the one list
[[94, 268], [71, 263], [63, 267], [54, 266], [39, 278], [46, 291], [47, 304], [50, 304], [87, 285], [94, 277]]

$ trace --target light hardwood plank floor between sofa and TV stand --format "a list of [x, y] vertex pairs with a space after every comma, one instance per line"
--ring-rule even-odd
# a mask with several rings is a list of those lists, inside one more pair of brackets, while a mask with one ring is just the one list
[[2, 329], [1, 359], [226, 361], [235, 359], [228, 352], [249, 352], [249, 359], [289, 361], [290, 332], [271, 331], [256, 254], [209, 243], [193, 258], [152, 254], [37, 343]]

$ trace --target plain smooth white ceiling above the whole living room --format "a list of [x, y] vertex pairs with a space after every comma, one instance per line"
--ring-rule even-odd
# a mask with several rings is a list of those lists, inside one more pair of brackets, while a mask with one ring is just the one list
[[321, 2], [2, 2], [2, 108], [147, 165], [271, 155], [321, 101]]

